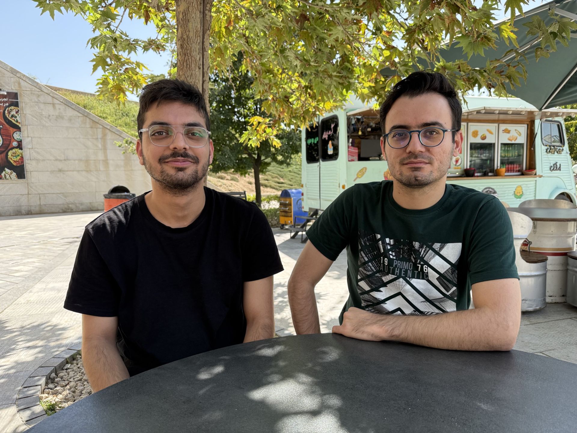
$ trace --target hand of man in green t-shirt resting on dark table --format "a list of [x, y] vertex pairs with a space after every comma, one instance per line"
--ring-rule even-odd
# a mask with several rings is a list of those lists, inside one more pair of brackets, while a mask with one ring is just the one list
[[386, 329], [383, 326], [386, 317], [375, 313], [369, 313], [364, 309], [351, 307], [343, 314], [343, 324], [333, 326], [335, 334], [359, 340], [381, 341], [385, 338]]

